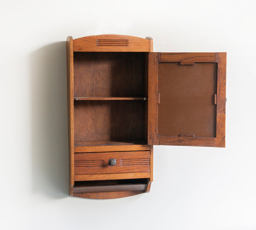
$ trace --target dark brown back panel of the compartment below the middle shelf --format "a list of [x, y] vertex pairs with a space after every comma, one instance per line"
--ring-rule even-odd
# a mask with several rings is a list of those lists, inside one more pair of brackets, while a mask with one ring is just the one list
[[74, 141], [145, 140], [145, 101], [75, 101]]

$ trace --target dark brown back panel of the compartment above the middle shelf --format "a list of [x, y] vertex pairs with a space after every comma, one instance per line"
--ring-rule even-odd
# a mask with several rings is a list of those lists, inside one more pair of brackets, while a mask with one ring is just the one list
[[145, 53], [74, 52], [74, 97], [136, 97], [145, 92]]

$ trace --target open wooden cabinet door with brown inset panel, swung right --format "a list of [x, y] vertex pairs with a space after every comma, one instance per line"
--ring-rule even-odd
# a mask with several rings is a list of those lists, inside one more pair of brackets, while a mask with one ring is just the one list
[[148, 55], [148, 144], [225, 147], [226, 53]]

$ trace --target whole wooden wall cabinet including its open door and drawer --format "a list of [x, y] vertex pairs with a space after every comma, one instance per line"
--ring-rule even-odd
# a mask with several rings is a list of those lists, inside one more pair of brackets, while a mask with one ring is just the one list
[[149, 192], [153, 145], [225, 147], [226, 53], [154, 53], [153, 40], [67, 38], [70, 196]]

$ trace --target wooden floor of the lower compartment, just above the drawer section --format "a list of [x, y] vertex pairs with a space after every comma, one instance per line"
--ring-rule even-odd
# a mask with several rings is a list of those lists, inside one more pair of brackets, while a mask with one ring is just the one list
[[145, 140], [126, 140], [126, 141], [114, 141], [114, 140], [100, 140], [100, 141], [74, 141], [74, 146], [89, 146], [89, 145], [145, 145]]

